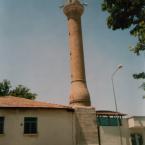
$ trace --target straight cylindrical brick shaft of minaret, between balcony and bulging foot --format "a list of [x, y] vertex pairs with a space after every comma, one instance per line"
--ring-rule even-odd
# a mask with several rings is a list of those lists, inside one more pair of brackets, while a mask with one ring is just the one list
[[71, 80], [86, 81], [84, 67], [84, 52], [82, 43], [81, 21], [80, 19], [68, 20]]

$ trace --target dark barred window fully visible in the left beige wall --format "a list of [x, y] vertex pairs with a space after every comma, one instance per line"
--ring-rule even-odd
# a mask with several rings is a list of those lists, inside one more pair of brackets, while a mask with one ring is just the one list
[[36, 133], [37, 133], [37, 117], [25, 117], [24, 134], [36, 134]]

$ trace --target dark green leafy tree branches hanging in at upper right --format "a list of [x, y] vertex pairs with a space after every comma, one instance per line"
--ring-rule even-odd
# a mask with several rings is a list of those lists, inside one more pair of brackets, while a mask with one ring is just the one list
[[[138, 42], [131, 51], [136, 55], [145, 51], [145, 0], [103, 0], [102, 10], [109, 13], [108, 28], [129, 29], [130, 35], [137, 38]], [[145, 79], [145, 72], [134, 74], [133, 77]], [[141, 88], [145, 90], [145, 83]]]

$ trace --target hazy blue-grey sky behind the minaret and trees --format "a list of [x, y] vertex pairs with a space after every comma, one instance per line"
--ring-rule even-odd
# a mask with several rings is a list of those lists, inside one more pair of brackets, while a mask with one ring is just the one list
[[[82, 16], [87, 86], [96, 110], [145, 114], [142, 80], [133, 73], [145, 71], [145, 53], [136, 56], [128, 47], [136, 43], [129, 30], [107, 28], [101, 0], [86, 0]], [[0, 81], [22, 84], [37, 93], [39, 101], [69, 104], [70, 65], [67, 19], [59, 6], [64, 0], [0, 0]]]

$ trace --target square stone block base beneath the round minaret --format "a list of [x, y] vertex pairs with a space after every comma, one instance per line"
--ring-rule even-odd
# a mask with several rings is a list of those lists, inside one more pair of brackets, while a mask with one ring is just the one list
[[98, 145], [96, 111], [92, 107], [74, 107], [76, 145]]

